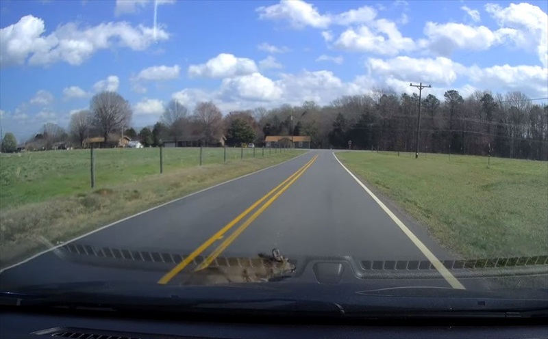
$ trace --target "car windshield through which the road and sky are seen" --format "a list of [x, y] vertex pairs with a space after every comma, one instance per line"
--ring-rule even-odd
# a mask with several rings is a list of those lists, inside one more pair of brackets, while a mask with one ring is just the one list
[[545, 301], [547, 12], [1, 1], [0, 291]]

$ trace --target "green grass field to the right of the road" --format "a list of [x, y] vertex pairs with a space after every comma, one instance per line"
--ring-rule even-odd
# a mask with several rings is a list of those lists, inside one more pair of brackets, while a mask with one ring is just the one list
[[548, 163], [391, 152], [340, 152], [366, 185], [464, 258], [548, 253]]

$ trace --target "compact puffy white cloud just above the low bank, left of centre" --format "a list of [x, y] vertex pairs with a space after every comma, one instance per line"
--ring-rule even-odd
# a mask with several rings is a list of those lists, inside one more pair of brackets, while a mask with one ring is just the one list
[[225, 78], [252, 74], [257, 70], [257, 65], [251, 59], [221, 53], [209, 59], [206, 64], [190, 65], [188, 75], [190, 77]]

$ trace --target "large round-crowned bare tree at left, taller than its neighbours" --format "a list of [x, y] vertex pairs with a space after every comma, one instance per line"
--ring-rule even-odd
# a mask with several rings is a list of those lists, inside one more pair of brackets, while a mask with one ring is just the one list
[[93, 123], [108, 141], [108, 135], [121, 131], [132, 120], [132, 107], [127, 100], [116, 92], [101, 92], [91, 98], [90, 110]]

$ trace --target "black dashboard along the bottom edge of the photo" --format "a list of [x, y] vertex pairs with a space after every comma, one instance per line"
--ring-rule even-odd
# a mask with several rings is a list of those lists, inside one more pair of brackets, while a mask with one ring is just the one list
[[0, 309], [0, 338], [547, 338], [545, 319], [512, 321], [329, 321], [325, 318], [249, 318], [116, 314], [94, 310]]

